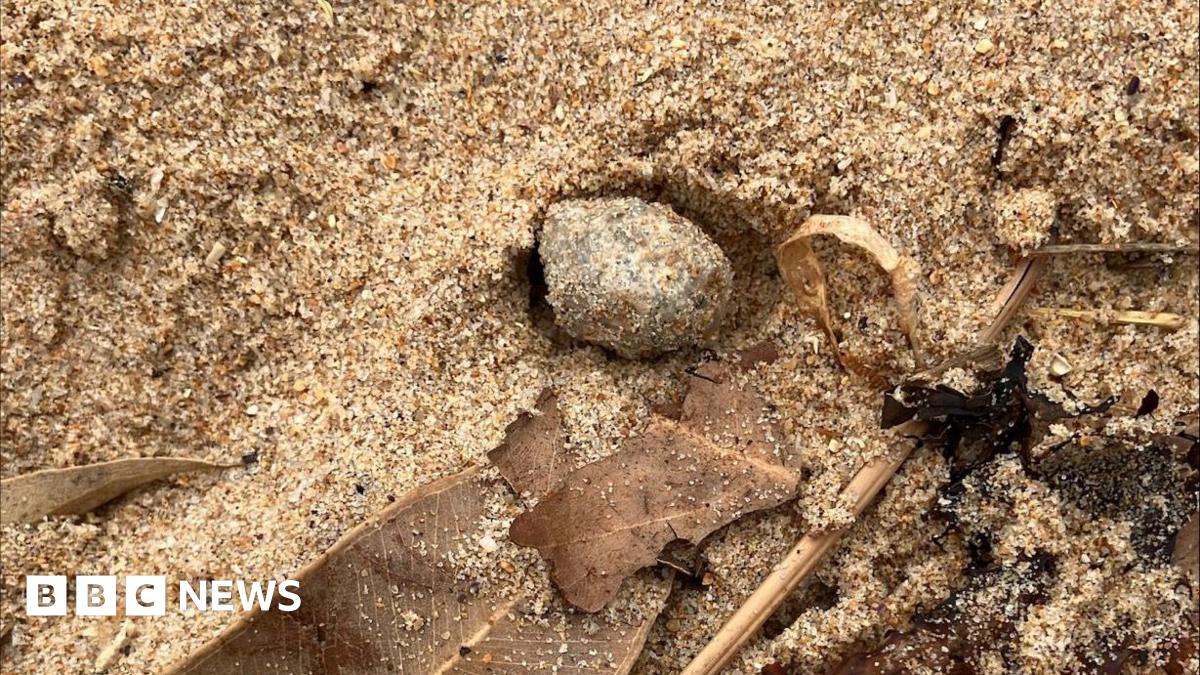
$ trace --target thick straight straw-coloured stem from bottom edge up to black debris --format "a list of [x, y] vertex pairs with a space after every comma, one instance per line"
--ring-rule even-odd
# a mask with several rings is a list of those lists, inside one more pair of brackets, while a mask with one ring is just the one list
[[[925, 423], [908, 422], [896, 430], [906, 436], [916, 436], [925, 431]], [[892, 479], [892, 476], [900, 468], [914, 447], [916, 443], [904, 441], [898, 449], [887, 456], [858, 470], [858, 473], [841, 491], [842, 498], [852, 502], [851, 509], [856, 519], [875, 500], [883, 485]], [[816, 569], [821, 558], [841, 540], [847, 530], [848, 527], [810, 532], [800, 538], [787, 552], [787, 556], [772, 569], [758, 590], [746, 598], [745, 603], [718, 631], [712, 641], [688, 664], [683, 675], [716, 675], [720, 673], [758, 632], [763, 622], [782, 604], [784, 599]]]

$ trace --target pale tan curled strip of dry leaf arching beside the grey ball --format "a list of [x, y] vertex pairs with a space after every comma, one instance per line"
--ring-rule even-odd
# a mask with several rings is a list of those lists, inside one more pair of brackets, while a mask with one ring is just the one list
[[838, 360], [846, 364], [846, 358], [838, 347], [840, 340], [829, 310], [829, 289], [826, 285], [824, 269], [810, 244], [810, 239], [820, 234], [829, 234], [863, 249], [888, 273], [899, 311], [900, 329], [908, 339], [918, 368], [924, 368], [917, 340], [917, 277], [920, 274], [917, 262], [896, 252], [878, 232], [859, 219], [815, 215], [804, 221], [804, 225], [779, 246], [776, 257], [779, 269], [796, 293], [800, 309], [821, 325], [829, 338], [829, 344], [833, 345]]

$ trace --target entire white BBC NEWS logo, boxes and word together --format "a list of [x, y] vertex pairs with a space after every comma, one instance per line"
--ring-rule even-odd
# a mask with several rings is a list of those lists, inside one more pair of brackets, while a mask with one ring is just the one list
[[[25, 577], [25, 613], [29, 616], [66, 616], [67, 578], [61, 575]], [[79, 616], [116, 616], [116, 577], [110, 574], [80, 574], [74, 578], [74, 613]], [[179, 611], [280, 611], [300, 609], [296, 591], [300, 583], [289, 579], [281, 584], [271, 580], [242, 581], [241, 579], [204, 580], [197, 584], [179, 583]], [[128, 616], [163, 616], [167, 614], [167, 578], [130, 574], [125, 578], [125, 614]]]

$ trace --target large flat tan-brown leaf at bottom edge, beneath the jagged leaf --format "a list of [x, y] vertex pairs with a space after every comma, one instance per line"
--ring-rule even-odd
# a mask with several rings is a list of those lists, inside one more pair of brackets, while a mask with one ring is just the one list
[[456, 563], [492, 491], [474, 468], [410, 491], [298, 574], [298, 610], [254, 610], [169, 673], [628, 673], [670, 584], [649, 580], [631, 622], [527, 617]]

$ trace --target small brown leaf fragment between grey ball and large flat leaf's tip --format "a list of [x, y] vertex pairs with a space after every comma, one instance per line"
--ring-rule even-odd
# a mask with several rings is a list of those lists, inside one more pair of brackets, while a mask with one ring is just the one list
[[487, 453], [517, 494], [545, 495], [574, 468], [563, 436], [558, 396], [546, 389], [536, 413], [522, 413], [504, 430], [504, 442]]

